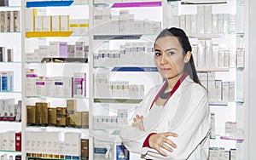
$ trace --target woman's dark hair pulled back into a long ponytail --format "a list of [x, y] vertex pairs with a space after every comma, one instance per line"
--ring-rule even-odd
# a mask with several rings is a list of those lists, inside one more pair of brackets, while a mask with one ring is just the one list
[[[169, 29], [164, 29], [163, 31], [160, 32], [158, 37], [156, 37], [155, 41], [157, 39], [159, 39], [160, 37], [168, 37], [168, 36], [169, 37], [177, 37], [178, 42], [183, 47], [183, 56], [185, 56], [188, 51], [192, 52], [192, 47], [189, 43], [189, 37], [186, 35], [186, 33], [182, 29], [179, 29], [179, 28], [172, 27]], [[196, 74], [195, 64], [194, 64], [192, 54], [191, 54], [189, 62], [186, 63], [184, 66], [184, 71], [189, 73], [189, 77], [191, 77], [191, 79], [193, 79], [193, 81], [195, 83], [201, 84], [200, 80]]]

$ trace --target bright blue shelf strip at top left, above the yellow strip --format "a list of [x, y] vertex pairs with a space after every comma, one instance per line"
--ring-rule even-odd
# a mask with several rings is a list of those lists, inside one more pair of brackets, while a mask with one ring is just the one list
[[26, 8], [35, 7], [60, 7], [60, 6], [70, 6], [73, 1], [36, 1], [36, 2], [26, 2]]

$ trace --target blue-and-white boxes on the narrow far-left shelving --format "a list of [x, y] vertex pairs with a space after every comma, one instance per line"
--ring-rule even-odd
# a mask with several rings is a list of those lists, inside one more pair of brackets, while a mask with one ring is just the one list
[[14, 90], [14, 71], [0, 71], [0, 91]]

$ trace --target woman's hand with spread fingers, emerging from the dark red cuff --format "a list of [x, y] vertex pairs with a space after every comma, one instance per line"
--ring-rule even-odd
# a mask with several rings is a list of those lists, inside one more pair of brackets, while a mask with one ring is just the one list
[[169, 140], [167, 137], [177, 137], [177, 134], [172, 132], [165, 132], [161, 134], [152, 134], [149, 137], [149, 146], [156, 151], [158, 151], [162, 156], [167, 156], [166, 152], [163, 151], [161, 148], [165, 148], [167, 151], [173, 151], [173, 148], [177, 148], [177, 146]]

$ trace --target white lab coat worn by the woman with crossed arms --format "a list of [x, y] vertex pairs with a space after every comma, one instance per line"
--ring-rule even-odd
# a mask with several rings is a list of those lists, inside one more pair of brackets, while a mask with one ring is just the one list
[[[149, 110], [162, 85], [150, 89], [137, 107], [136, 114], [144, 117], [145, 131], [132, 128], [132, 122], [121, 129], [120, 138], [124, 145], [129, 151], [139, 153], [145, 159], [207, 160], [210, 116], [206, 89], [187, 76], [165, 106], [154, 105]], [[167, 157], [161, 156], [152, 148], [143, 147], [149, 133], [168, 131], [177, 133], [178, 136], [168, 137], [177, 145], [177, 149], [173, 152], [163, 149]]]

